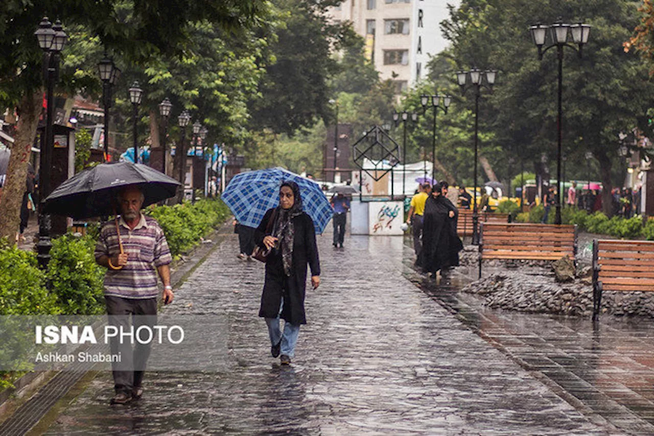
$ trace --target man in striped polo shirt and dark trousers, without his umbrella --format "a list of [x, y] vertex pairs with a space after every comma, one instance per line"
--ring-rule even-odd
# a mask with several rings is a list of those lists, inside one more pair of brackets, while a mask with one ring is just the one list
[[[145, 196], [137, 185], [125, 186], [118, 192], [120, 220], [105, 222], [95, 246], [95, 261], [108, 268], [105, 275], [105, 303], [109, 324], [129, 329], [129, 318], [137, 316], [136, 330], [150, 328], [156, 322], [157, 277], [163, 282], [164, 304], [173, 301], [169, 263], [173, 260], [159, 224], [141, 213]], [[156, 271], [155, 271], [156, 269]], [[121, 362], [112, 363], [116, 395], [111, 404], [125, 404], [143, 395], [143, 374], [150, 356], [150, 344], [137, 343], [132, 350], [129, 341], [111, 338], [111, 353], [120, 352]]]

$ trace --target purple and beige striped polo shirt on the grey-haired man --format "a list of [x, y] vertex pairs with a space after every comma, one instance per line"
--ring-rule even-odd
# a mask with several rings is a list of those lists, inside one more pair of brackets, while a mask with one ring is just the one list
[[[128, 254], [127, 265], [122, 269], [107, 269], [105, 295], [133, 299], [157, 296], [156, 267], [173, 261], [163, 230], [154, 218], [141, 214], [139, 224], [133, 229], [118, 220], [123, 251]], [[116, 223], [105, 222], [95, 244], [95, 259], [114, 256], [120, 252]]]

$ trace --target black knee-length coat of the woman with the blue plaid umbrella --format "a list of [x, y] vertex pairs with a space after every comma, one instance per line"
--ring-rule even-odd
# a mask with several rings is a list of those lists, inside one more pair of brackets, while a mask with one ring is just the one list
[[[270, 209], [254, 233], [254, 242], [264, 247], [264, 237], [267, 232], [268, 221], [275, 209]], [[292, 220], [295, 229], [293, 240], [293, 265], [290, 276], [284, 274], [281, 250], [273, 250], [266, 260], [266, 281], [264, 292], [261, 295], [259, 316], [263, 318], [277, 318], [281, 299], [284, 298], [284, 307], [281, 318], [290, 324], [307, 324], [304, 312], [304, 296], [307, 285], [307, 264], [311, 267], [311, 275], [320, 275], [320, 260], [316, 244], [315, 227], [313, 220], [306, 213], [296, 216]]]

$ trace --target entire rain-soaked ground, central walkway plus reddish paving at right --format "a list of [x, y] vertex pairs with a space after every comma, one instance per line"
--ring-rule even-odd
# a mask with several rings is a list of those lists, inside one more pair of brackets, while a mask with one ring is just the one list
[[465, 269], [446, 286], [412, 271], [401, 238], [330, 237], [292, 366], [256, 316], [263, 267], [229, 235], [164, 309], [224, 318], [226, 370], [148, 373], [128, 406], [100, 373], [48, 434], [654, 433], [649, 320], [487, 310], [457, 294]]

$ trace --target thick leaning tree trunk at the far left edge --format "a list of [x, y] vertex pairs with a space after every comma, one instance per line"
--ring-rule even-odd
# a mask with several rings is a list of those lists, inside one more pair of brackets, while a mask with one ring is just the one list
[[14, 243], [20, 224], [20, 206], [26, 190], [27, 163], [39, 125], [43, 93], [24, 96], [18, 106], [20, 118], [16, 124], [16, 137], [11, 146], [7, 178], [0, 197], [0, 238], [9, 237]]

